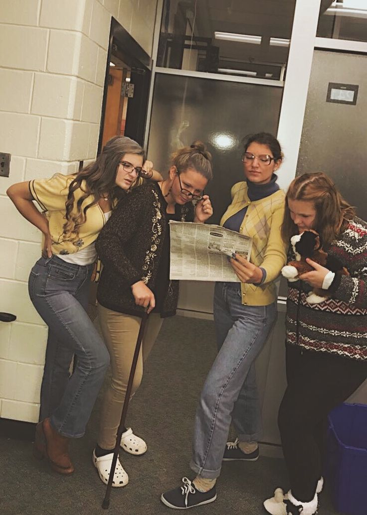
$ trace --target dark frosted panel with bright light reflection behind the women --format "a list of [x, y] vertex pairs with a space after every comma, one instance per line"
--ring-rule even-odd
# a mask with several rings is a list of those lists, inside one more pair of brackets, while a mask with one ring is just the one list
[[244, 180], [241, 154], [246, 134], [276, 135], [282, 88], [253, 83], [157, 74], [148, 156], [163, 175], [170, 153], [202, 140], [213, 156], [214, 178], [206, 189], [217, 224], [230, 203], [230, 188]]

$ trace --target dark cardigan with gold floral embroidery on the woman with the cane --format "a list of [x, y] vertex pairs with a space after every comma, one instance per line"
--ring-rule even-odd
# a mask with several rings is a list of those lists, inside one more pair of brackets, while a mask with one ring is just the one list
[[[142, 316], [131, 285], [143, 281], [154, 289], [164, 238], [169, 237], [166, 203], [156, 183], [146, 184], [124, 196], [96, 241], [103, 263], [97, 289], [98, 302], [110, 310]], [[181, 209], [177, 205], [178, 209]], [[192, 203], [182, 206], [186, 221], [192, 221]], [[176, 313], [178, 281], [170, 281], [161, 307], [161, 317]]]

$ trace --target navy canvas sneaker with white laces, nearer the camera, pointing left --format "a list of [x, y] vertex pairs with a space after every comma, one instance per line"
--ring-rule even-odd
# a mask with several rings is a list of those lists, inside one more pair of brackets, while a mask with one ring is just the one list
[[161, 501], [163, 504], [176, 510], [185, 510], [215, 501], [215, 485], [208, 492], [199, 492], [187, 477], [182, 477], [182, 483], [183, 486], [162, 493]]

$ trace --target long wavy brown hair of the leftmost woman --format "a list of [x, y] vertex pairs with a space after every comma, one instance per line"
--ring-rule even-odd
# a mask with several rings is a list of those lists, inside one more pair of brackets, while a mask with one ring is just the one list
[[[125, 154], [136, 154], [143, 157], [144, 149], [134, 140], [126, 136], [114, 136], [103, 147], [94, 163], [80, 170], [75, 179], [70, 183], [68, 199], [65, 202], [66, 214], [63, 225], [63, 237], [75, 242], [79, 238], [79, 228], [85, 224], [87, 211], [95, 205], [99, 199], [108, 194], [112, 205], [121, 196], [121, 188], [116, 185], [115, 179], [120, 161]], [[80, 189], [82, 195], [75, 203], [75, 191]], [[83, 209], [84, 200], [93, 196], [93, 200]]]

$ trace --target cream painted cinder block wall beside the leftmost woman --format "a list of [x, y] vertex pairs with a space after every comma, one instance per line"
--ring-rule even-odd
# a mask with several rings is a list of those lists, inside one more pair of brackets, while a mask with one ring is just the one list
[[28, 298], [41, 234], [6, 197], [10, 184], [93, 160], [111, 15], [151, 55], [157, 0], [7, 0], [0, 14], [0, 417], [36, 422], [47, 328]]

